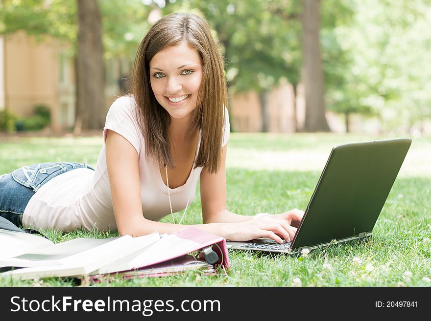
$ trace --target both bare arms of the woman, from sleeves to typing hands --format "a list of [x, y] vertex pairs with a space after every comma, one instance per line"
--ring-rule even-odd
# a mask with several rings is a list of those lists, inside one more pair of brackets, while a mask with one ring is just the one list
[[[226, 209], [226, 180], [223, 150], [222, 167], [216, 174], [201, 174], [203, 219], [208, 224], [179, 225], [154, 222], [142, 213], [139, 157], [135, 148], [123, 136], [108, 130], [106, 137], [106, 165], [111, 188], [115, 220], [120, 235], [148, 235], [177, 232], [185, 227], [196, 227], [233, 241], [245, 241], [258, 237], [270, 237], [282, 242], [281, 237], [293, 237], [292, 227], [283, 220], [269, 216], [252, 220], [251, 217], [230, 213]], [[219, 185], [220, 182], [224, 184]], [[203, 185], [203, 186], [202, 186]], [[212, 187], [212, 188], [211, 188]], [[289, 232], [290, 231], [290, 232]], [[281, 236], [281, 237], [280, 237]]]

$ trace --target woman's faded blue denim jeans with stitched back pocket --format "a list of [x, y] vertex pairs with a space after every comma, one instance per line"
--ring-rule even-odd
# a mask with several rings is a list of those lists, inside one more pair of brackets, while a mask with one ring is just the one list
[[85, 163], [39, 163], [0, 175], [0, 216], [21, 226], [23, 213], [31, 196], [55, 176], [78, 168], [93, 170]]

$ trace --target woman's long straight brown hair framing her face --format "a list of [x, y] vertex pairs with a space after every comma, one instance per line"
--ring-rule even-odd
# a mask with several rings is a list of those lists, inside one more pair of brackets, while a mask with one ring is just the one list
[[[168, 112], [157, 102], [151, 89], [149, 62], [160, 50], [186, 41], [202, 61], [202, 80], [197, 95], [189, 134], [201, 130], [195, 167], [216, 172], [220, 166], [223, 140], [224, 107], [227, 88], [223, 63], [211, 29], [204, 19], [187, 13], [174, 13], [161, 18], [147, 32], [138, 48], [133, 67], [132, 94], [135, 97], [138, 125], [145, 140], [147, 157], [173, 168], [169, 150]], [[229, 130], [226, 128], [225, 130]]]

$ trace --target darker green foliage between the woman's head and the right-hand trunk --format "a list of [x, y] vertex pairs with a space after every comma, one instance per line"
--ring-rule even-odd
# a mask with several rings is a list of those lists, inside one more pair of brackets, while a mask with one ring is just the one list
[[281, 78], [298, 82], [298, 1], [185, 0], [169, 10], [195, 9], [214, 29], [226, 59], [231, 92], [268, 90]]

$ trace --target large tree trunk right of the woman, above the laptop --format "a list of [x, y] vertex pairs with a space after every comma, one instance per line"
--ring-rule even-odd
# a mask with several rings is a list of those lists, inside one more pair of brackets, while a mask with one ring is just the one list
[[304, 60], [306, 131], [329, 131], [325, 117], [322, 58], [320, 54], [319, 0], [303, 0], [302, 52]]

